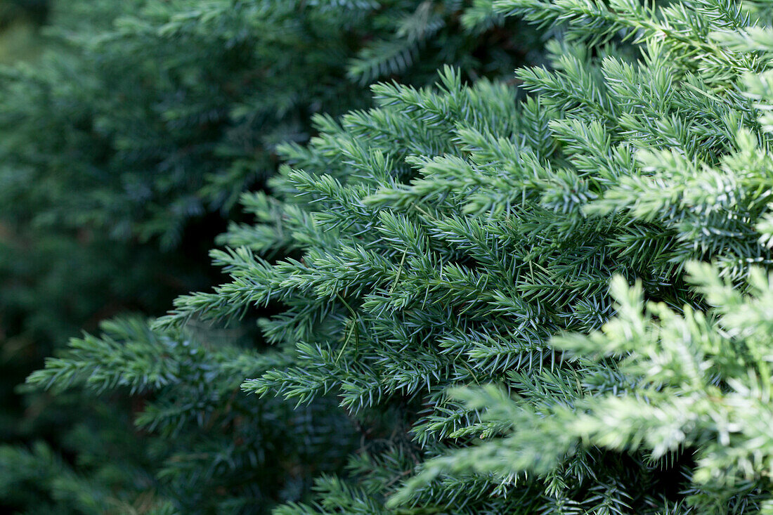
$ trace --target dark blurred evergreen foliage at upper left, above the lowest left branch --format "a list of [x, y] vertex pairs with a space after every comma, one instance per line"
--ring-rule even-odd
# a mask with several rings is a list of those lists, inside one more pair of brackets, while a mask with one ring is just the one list
[[[310, 114], [366, 106], [376, 78], [424, 84], [440, 63], [502, 76], [538, 46], [502, 19], [462, 29], [466, 8], [52, 2], [46, 51], [0, 70], [7, 347], [39, 359], [94, 319], [205, 288], [199, 254], [274, 172], [278, 142], [308, 139]], [[73, 273], [84, 261], [94, 273]]]

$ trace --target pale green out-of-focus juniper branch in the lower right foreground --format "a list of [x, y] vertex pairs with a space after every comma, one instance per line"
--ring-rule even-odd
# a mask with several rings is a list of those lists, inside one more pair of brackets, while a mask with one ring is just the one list
[[[586, 462], [585, 483], [598, 482], [591, 464], [601, 453], [623, 452], [646, 476], [663, 469], [683, 475], [683, 498], [645, 497], [648, 512], [670, 505], [666, 513], [770, 513], [773, 275], [752, 268], [750, 295], [743, 295], [709, 264], [687, 269], [711, 305], [707, 313], [645, 305], [641, 285], [629, 288], [618, 276], [614, 319], [591, 335], [552, 340], [564, 353], [561, 367], [521, 380], [517, 398], [490, 386], [455, 391], [506, 438], [432, 460], [392, 502], [447, 472], [565, 477], [572, 462]], [[598, 513], [606, 503], [606, 513], [642, 513], [632, 485], [614, 477], [605, 483], [601, 496], [577, 509]]]

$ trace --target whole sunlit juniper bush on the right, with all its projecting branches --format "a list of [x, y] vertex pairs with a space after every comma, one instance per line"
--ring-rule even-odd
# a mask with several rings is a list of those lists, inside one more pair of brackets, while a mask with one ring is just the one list
[[[138, 424], [181, 452], [239, 383], [245, 411], [287, 413], [250, 435], [303, 440], [276, 397], [319, 410], [348, 469], [315, 465], [278, 515], [773, 513], [770, 6], [475, 2], [467, 22], [557, 36], [516, 72], [528, 94], [445, 67], [316, 115], [212, 252], [229, 282], [153, 331], [73, 340], [29, 384], [152, 388]], [[192, 343], [256, 313], [270, 350]], [[237, 492], [265, 483], [237, 476], [213, 481], [257, 510]], [[157, 477], [187, 513], [190, 475]]]

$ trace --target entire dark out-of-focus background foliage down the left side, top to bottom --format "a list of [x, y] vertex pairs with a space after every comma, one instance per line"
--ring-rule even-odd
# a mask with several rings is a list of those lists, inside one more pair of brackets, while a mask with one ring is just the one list
[[[490, 3], [0, 2], [0, 504], [165, 513], [158, 467], [170, 450], [148, 448], [149, 430], [133, 427], [144, 402], [16, 385], [81, 330], [162, 314], [176, 295], [213, 284], [214, 237], [239, 220], [240, 194], [274, 173], [276, 146], [314, 135], [313, 114], [368, 107], [377, 80], [429, 84], [446, 63], [475, 80], [540, 62], [536, 32], [491, 15]], [[261, 346], [244, 327], [203, 334]], [[264, 408], [244, 403], [256, 424]], [[267, 429], [259, 447], [282, 455], [283, 441], [294, 443]], [[262, 509], [308, 492], [288, 479], [298, 460], [252, 482], [261, 495], [275, 490]], [[230, 488], [207, 476], [187, 491], [212, 494], [206, 513], [226, 509]]]

